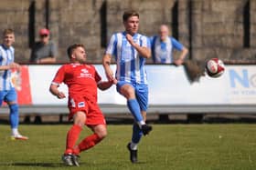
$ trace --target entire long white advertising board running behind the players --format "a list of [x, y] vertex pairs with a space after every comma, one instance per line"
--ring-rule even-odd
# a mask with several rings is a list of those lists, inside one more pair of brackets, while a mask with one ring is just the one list
[[[51, 80], [60, 65], [28, 65], [32, 105], [67, 105], [48, 91]], [[106, 79], [102, 65], [95, 65]], [[112, 65], [115, 70], [115, 66]], [[219, 78], [202, 76], [190, 83], [183, 66], [146, 65], [149, 82], [149, 105], [256, 105], [256, 66], [226, 65]], [[68, 95], [66, 85], [59, 89]], [[115, 85], [99, 90], [100, 104], [125, 105]]]

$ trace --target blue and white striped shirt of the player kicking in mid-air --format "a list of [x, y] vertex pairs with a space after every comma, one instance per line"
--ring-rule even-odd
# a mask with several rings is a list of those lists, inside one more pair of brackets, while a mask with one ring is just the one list
[[[115, 77], [118, 81], [147, 84], [145, 58], [138, 54], [125, 35], [125, 32], [113, 34], [105, 52], [107, 55], [115, 56], [117, 65]], [[150, 48], [150, 41], [144, 35], [133, 35], [133, 41], [137, 45]]]

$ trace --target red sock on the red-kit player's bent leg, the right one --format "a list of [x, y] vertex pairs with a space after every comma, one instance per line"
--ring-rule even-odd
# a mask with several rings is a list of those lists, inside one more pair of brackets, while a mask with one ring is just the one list
[[91, 147], [98, 144], [99, 142], [101, 142], [101, 138], [99, 137], [99, 135], [97, 134], [89, 135], [88, 137], [86, 137], [80, 142], [80, 145], [79, 145], [80, 151], [90, 149]]

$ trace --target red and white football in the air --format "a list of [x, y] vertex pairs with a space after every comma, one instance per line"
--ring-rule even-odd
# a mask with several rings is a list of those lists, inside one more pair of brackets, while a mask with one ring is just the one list
[[210, 77], [219, 77], [225, 71], [225, 65], [219, 58], [211, 58], [206, 63], [206, 71]]

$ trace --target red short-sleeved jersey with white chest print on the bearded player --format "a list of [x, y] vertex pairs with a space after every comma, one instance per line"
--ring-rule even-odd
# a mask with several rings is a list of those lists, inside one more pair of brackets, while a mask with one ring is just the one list
[[53, 83], [62, 82], [69, 87], [69, 97], [82, 95], [87, 99], [97, 101], [97, 83], [101, 76], [93, 65], [67, 64], [62, 65], [53, 79]]

